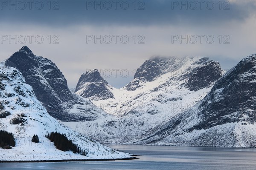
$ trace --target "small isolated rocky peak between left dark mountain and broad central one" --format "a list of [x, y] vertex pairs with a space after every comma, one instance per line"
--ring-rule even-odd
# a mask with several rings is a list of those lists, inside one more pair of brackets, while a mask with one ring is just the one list
[[105, 100], [113, 98], [113, 93], [109, 90], [112, 87], [102, 78], [97, 69], [85, 72], [79, 78], [76, 86], [76, 94], [92, 100]]

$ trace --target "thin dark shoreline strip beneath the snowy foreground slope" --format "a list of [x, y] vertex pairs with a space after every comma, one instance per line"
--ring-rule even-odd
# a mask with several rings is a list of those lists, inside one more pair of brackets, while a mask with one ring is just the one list
[[133, 160], [133, 159], [139, 159], [136, 157], [131, 158], [113, 158], [113, 159], [62, 159], [62, 160], [33, 160], [33, 161], [0, 161], [0, 163], [27, 163], [27, 162], [70, 162], [70, 161], [120, 161], [120, 160]]

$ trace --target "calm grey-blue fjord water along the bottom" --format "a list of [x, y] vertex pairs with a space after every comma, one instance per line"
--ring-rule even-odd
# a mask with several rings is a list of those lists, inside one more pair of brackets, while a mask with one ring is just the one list
[[109, 145], [135, 160], [0, 163], [0, 170], [256, 170], [256, 149]]

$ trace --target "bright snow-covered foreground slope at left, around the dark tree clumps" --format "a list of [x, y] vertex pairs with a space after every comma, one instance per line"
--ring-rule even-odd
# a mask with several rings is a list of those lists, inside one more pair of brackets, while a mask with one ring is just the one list
[[[52, 118], [17, 69], [1, 63], [0, 77], [0, 104], [3, 108], [0, 110], [0, 130], [13, 133], [16, 141], [12, 149], [0, 149], [0, 161], [131, 158], [129, 154], [106, 147]], [[87, 156], [56, 149], [44, 137], [50, 132], [66, 134], [68, 139], [87, 152]], [[31, 141], [34, 134], [39, 136], [39, 143]]]

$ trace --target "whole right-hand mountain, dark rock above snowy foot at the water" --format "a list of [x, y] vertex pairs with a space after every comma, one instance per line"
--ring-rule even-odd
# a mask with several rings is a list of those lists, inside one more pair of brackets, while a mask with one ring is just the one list
[[230, 69], [195, 107], [149, 130], [137, 143], [256, 147], [256, 55]]

